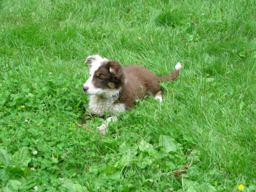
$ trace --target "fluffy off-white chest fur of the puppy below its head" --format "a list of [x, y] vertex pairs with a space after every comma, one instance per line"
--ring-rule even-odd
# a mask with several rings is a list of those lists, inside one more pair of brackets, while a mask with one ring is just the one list
[[116, 103], [116, 98], [101, 98], [96, 95], [90, 96], [90, 102], [88, 109], [92, 110], [93, 114], [99, 114], [101, 116], [104, 113], [120, 113], [125, 111], [125, 104]]

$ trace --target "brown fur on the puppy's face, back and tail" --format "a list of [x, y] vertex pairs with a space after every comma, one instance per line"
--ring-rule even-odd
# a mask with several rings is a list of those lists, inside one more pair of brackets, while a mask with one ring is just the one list
[[169, 75], [159, 77], [140, 65], [121, 66], [118, 61], [107, 61], [94, 73], [93, 84], [103, 89], [122, 87], [116, 102], [125, 103], [126, 108], [129, 109], [137, 98], [161, 94], [162, 88], [159, 82], [169, 79], [174, 81], [179, 74], [180, 70], [174, 70]]

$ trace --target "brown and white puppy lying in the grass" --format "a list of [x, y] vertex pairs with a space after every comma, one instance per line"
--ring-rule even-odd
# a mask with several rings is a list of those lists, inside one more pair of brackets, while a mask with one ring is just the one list
[[140, 65], [122, 66], [118, 61], [100, 55], [90, 55], [84, 63], [89, 65], [90, 70], [90, 77], [83, 86], [84, 92], [90, 95], [90, 116], [111, 115], [97, 128], [102, 135], [108, 131], [108, 122], [117, 120], [115, 113], [132, 108], [137, 99], [151, 95], [162, 102], [163, 92], [159, 82], [177, 79], [182, 68], [177, 63], [171, 74], [159, 77]]

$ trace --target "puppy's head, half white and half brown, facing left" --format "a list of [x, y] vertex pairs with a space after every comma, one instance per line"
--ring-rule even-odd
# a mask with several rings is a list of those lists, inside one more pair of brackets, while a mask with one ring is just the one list
[[118, 61], [101, 58], [99, 55], [88, 57], [90, 77], [83, 86], [89, 95], [111, 95], [117, 93], [124, 83], [124, 73]]

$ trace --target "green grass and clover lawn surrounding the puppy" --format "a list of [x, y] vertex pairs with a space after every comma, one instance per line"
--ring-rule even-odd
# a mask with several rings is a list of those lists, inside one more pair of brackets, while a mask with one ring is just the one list
[[[256, 1], [120, 2], [0, 0], [0, 187], [256, 191]], [[75, 124], [92, 54], [183, 70], [102, 138]]]

